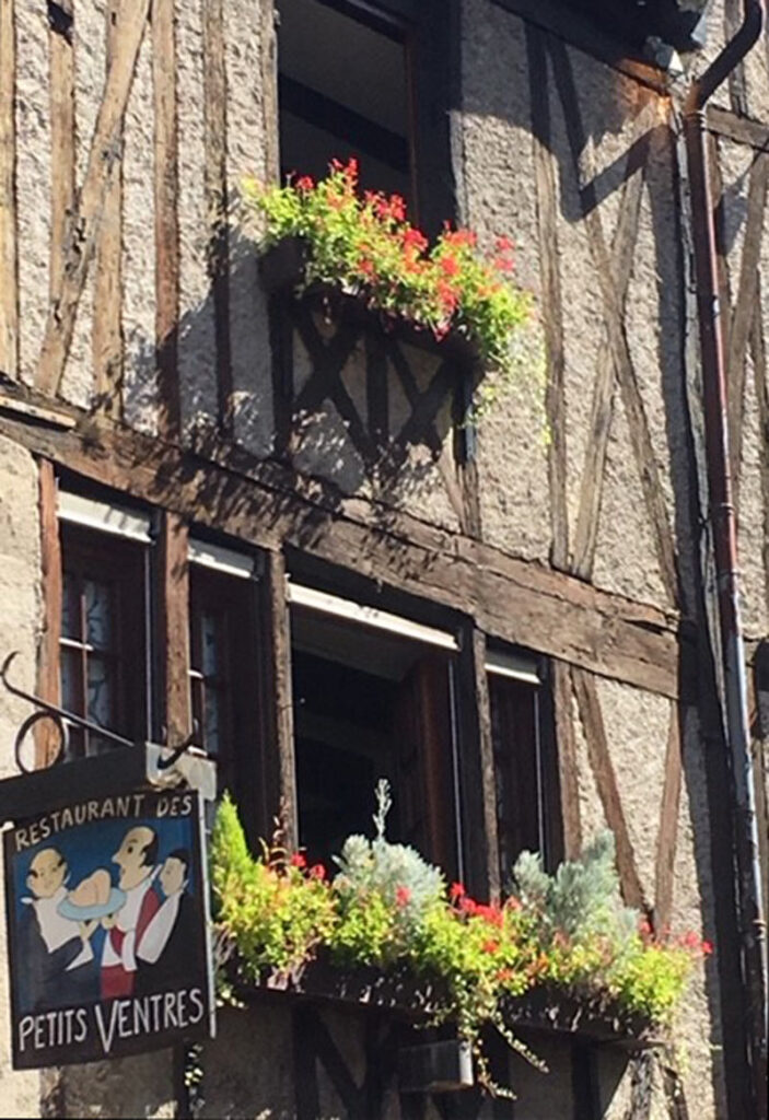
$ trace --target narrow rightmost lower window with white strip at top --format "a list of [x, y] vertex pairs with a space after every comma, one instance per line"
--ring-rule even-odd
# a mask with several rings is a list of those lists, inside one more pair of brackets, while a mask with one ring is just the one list
[[509, 650], [487, 653], [494, 745], [499, 874], [510, 870], [525, 849], [546, 852], [545, 775], [541, 735], [541, 671], [531, 656]]

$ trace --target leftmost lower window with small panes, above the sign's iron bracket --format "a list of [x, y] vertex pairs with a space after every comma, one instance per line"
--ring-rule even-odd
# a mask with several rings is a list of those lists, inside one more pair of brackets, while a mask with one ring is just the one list
[[[144, 562], [140, 544], [62, 528], [62, 704], [131, 740], [147, 736]], [[69, 757], [113, 746], [69, 728]]]

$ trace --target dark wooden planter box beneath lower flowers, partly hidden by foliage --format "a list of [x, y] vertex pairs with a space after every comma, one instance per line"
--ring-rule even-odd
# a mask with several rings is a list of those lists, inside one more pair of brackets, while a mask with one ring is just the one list
[[[392, 1011], [401, 1019], [424, 1023], [441, 1005], [440, 983], [414, 977], [407, 969], [382, 972], [376, 968], [341, 969], [323, 956], [296, 976], [265, 971], [257, 983], [234, 977], [238, 998], [253, 1002], [265, 997], [290, 997]], [[576, 1036], [622, 1049], [650, 1049], [664, 1045], [660, 1028], [640, 1015], [630, 1015], [616, 1002], [579, 998], [548, 988], [533, 988], [504, 1005], [513, 1028], [541, 1034]]]

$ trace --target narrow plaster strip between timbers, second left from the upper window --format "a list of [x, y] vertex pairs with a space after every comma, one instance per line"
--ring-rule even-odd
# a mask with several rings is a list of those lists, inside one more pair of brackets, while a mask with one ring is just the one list
[[178, 0], [177, 104], [179, 128], [179, 391], [187, 429], [216, 416], [214, 304], [206, 252], [209, 236], [205, 193], [203, 7]]

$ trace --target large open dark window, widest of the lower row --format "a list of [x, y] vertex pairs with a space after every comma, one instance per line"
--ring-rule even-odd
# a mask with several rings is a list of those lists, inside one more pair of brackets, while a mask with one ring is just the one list
[[292, 609], [299, 840], [332, 869], [345, 839], [373, 833], [386, 777], [387, 839], [457, 874], [449, 651]]

